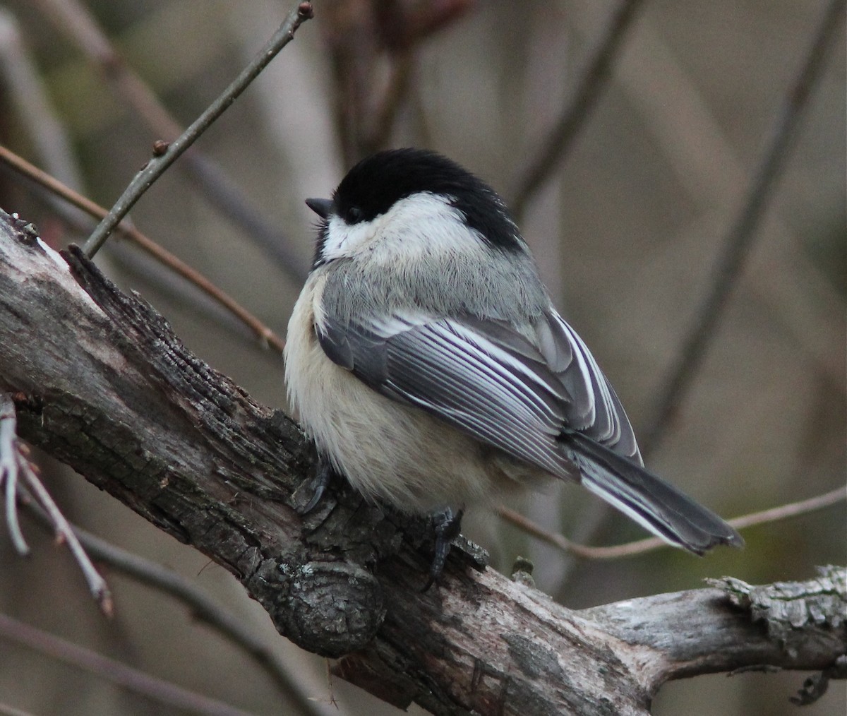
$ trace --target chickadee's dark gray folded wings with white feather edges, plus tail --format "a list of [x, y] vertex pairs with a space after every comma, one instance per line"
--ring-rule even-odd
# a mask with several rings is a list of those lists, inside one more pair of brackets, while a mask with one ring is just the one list
[[[678, 547], [739, 545], [722, 519], [642, 467], [615, 391], [555, 312], [534, 341], [501, 321], [406, 314], [341, 325], [318, 340], [336, 364], [512, 457], [571, 477]], [[536, 347], [537, 346], [537, 347]]]

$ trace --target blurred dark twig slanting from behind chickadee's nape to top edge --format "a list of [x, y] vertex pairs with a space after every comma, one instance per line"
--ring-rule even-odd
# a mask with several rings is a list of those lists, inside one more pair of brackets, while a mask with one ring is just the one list
[[540, 143], [534, 162], [529, 164], [518, 182], [518, 188], [512, 192], [510, 206], [518, 218], [523, 215], [529, 198], [538, 191], [556, 167], [562, 164], [573, 147], [573, 140], [608, 83], [611, 76], [609, 69], [623, 47], [623, 40], [640, 5], [641, 0], [621, 0], [612, 14], [612, 19], [592, 53], [572, 99], [550, 134]]

